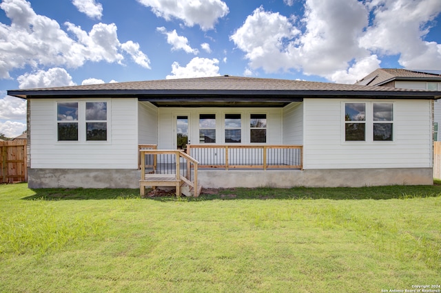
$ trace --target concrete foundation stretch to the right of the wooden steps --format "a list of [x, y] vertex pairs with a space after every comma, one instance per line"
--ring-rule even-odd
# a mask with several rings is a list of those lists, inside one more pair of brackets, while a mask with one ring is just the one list
[[233, 187], [361, 187], [382, 185], [431, 185], [431, 168], [326, 169], [326, 170], [202, 170], [198, 184], [205, 188]]

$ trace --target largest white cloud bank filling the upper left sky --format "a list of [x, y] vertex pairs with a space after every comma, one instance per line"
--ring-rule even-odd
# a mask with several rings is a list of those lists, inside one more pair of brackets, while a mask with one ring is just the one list
[[[10, 70], [26, 65], [80, 67], [87, 61], [123, 61], [121, 50], [124, 49], [114, 23], [98, 23], [90, 32], [85, 32], [66, 22], [67, 31], [74, 36], [72, 39], [57, 21], [36, 14], [28, 1], [3, 0], [0, 8], [12, 22], [11, 25], [0, 23], [0, 78], [9, 78]], [[138, 50], [138, 55], [141, 54]]]

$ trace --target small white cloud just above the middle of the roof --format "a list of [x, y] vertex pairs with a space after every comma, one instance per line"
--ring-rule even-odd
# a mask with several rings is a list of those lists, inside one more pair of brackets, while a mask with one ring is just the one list
[[195, 57], [190, 61], [187, 66], [181, 67], [179, 63], [174, 62], [172, 64], [172, 74], [167, 75], [165, 78], [194, 78], [205, 76], [220, 76], [219, 67], [217, 66], [219, 61], [209, 58]]

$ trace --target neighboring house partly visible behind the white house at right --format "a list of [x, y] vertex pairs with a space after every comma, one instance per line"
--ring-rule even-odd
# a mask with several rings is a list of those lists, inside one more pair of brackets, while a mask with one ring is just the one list
[[[441, 91], [441, 71], [378, 68], [358, 80], [356, 85]], [[438, 135], [438, 125], [441, 127], [441, 102], [435, 100], [433, 103], [433, 128], [435, 130], [433, 139], [439, 141], [441, 136]]]

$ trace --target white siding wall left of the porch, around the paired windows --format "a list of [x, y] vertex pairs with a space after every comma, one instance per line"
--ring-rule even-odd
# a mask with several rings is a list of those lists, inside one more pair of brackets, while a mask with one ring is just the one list
[[136, 169], [138, 109], [136, 98], [94, 99], [107, 102], [107, 142], [85, 141], [85, 124], [79, 123], [79, 141], [57, 141], [57, 102], [85, 99], [32, 99], [32, 169]]

